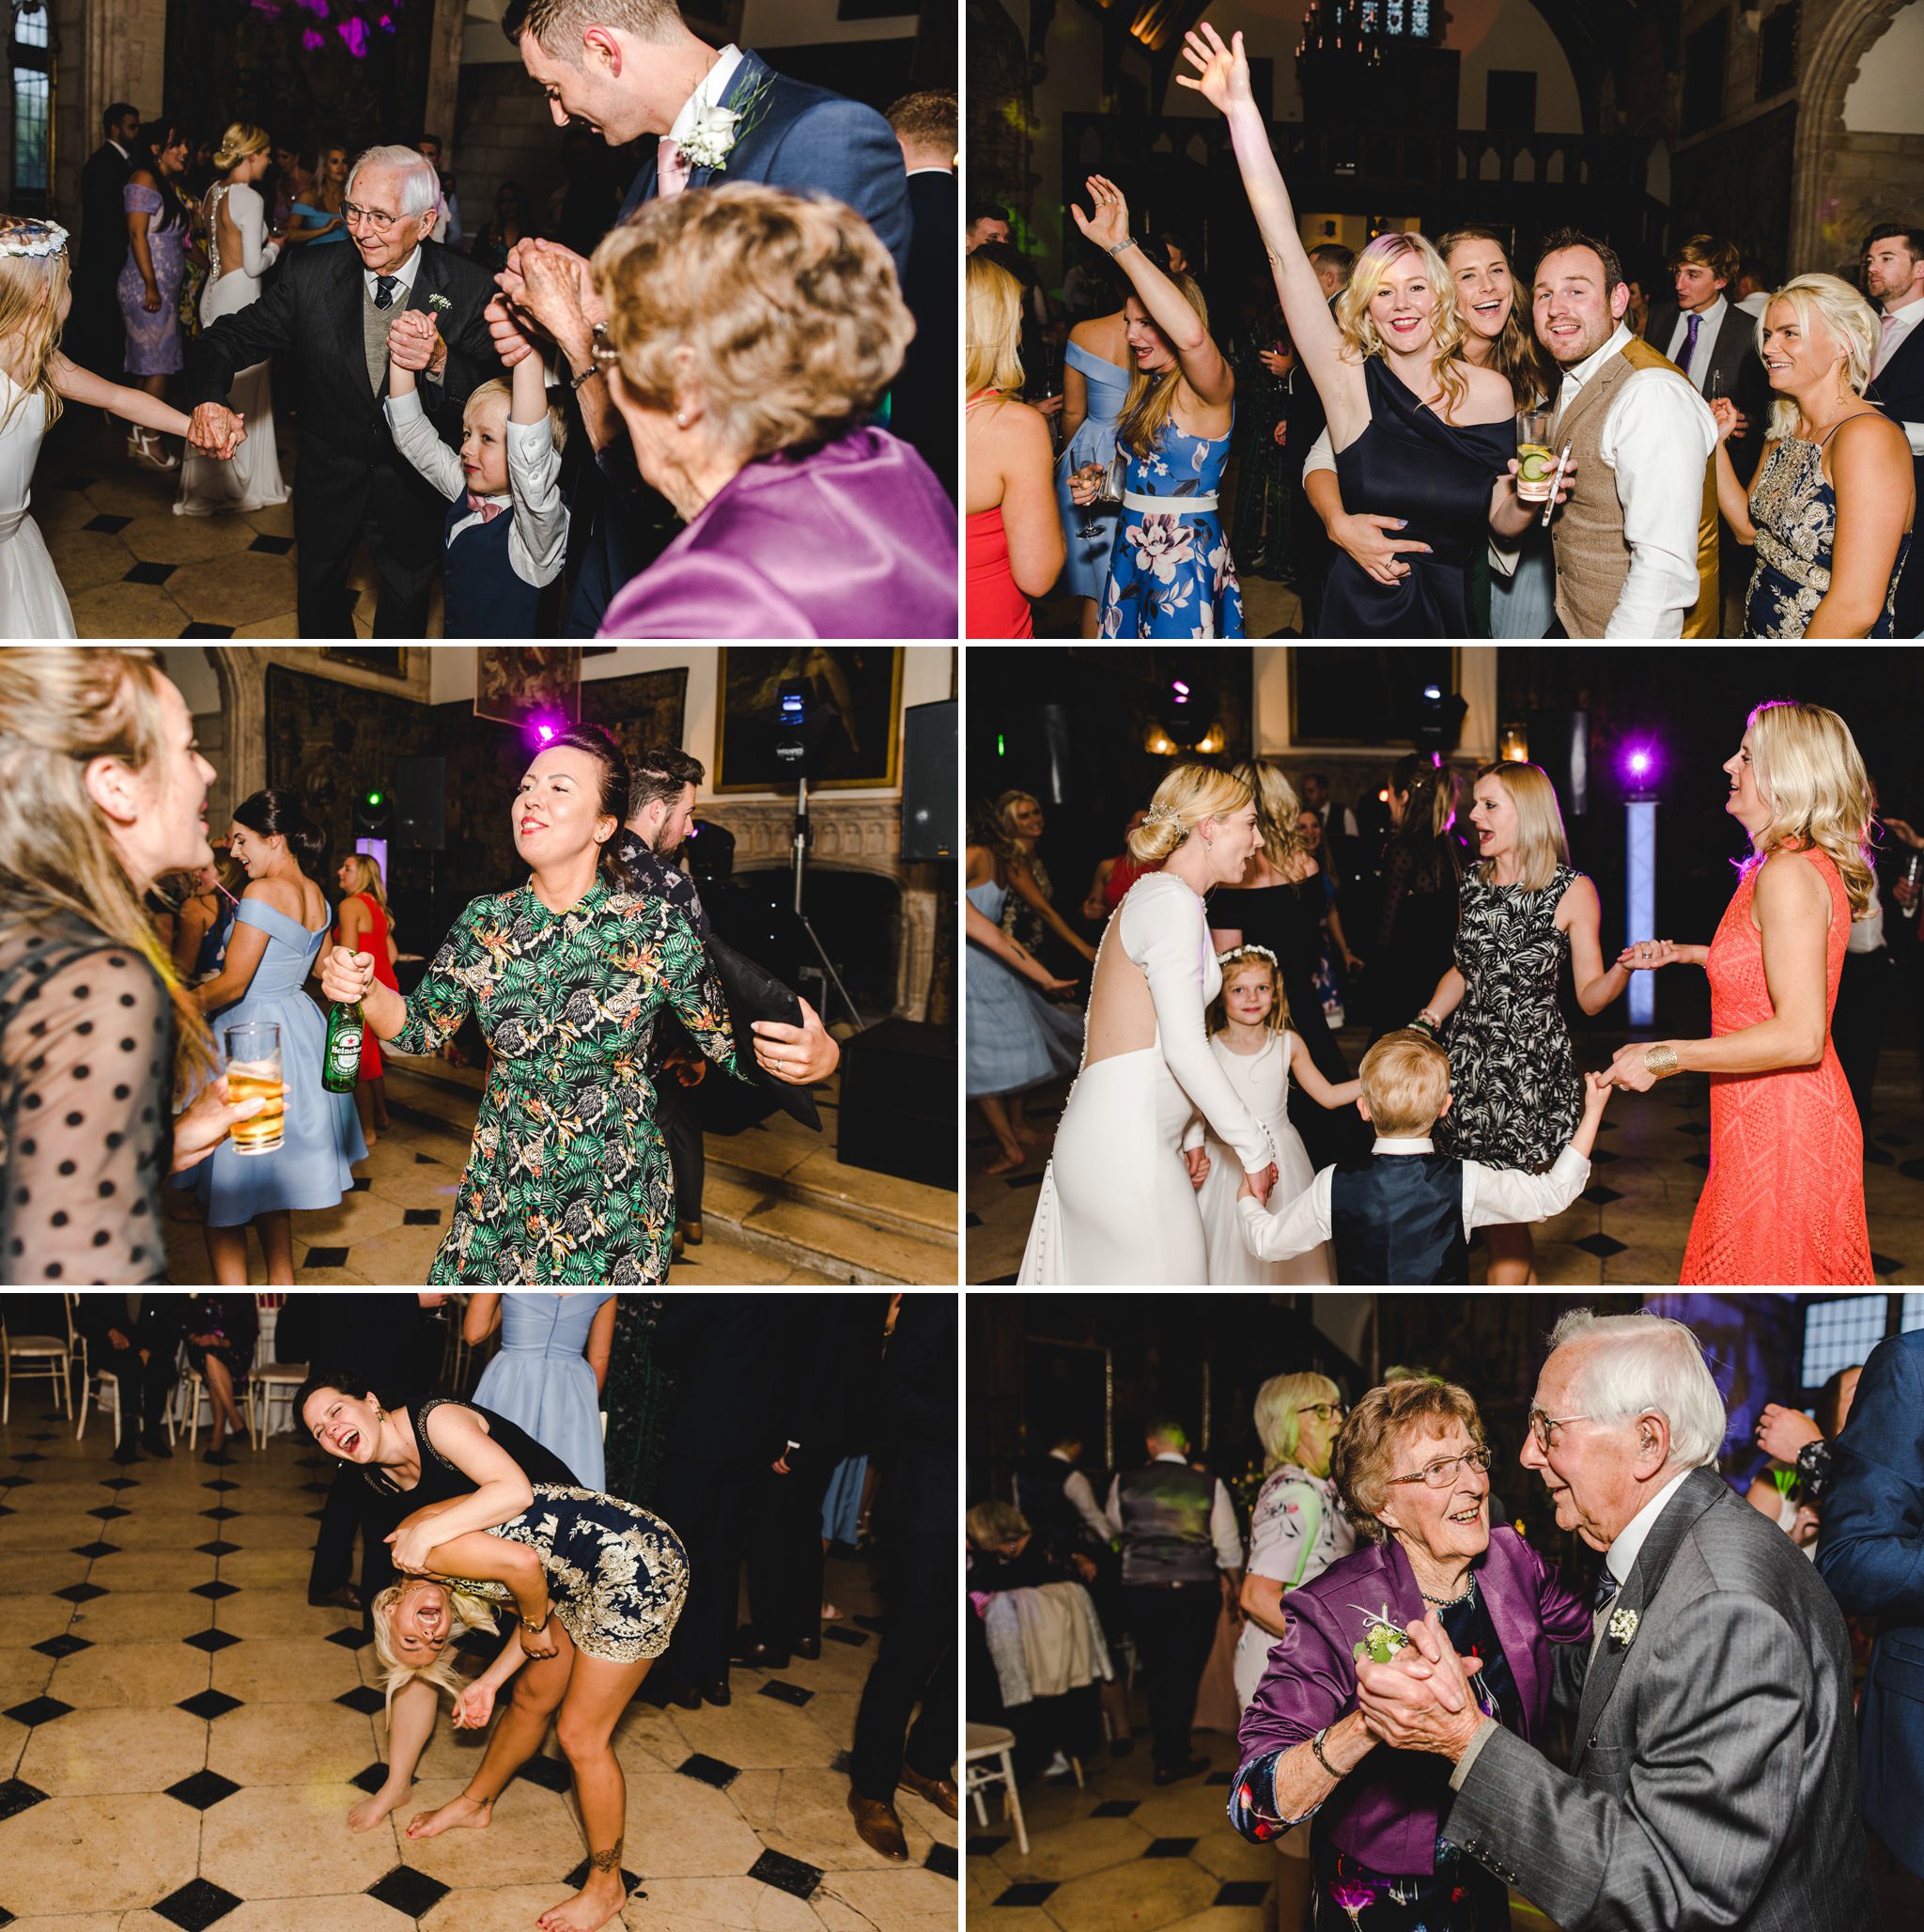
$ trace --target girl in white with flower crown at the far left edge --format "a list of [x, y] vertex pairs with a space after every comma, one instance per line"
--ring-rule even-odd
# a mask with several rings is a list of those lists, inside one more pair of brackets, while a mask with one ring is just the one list
[[33, 504], [33, 466], [62, 402], [187, 437], [193, 425], [143, 388], [106, 383], [60, 354], [73, 305], [68, 232], [0, 214], [0, 638], [71, 638], [73, 607], [46, 554]]

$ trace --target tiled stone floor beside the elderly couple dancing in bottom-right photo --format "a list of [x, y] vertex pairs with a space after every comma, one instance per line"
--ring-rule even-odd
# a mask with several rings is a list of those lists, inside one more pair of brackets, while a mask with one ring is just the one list
[[[1024, 1785], [1028, 1857], [991, 1791], [987, 1828], [966, 1814], [972, 1932], [1275, 1932], [1279, 1853], [1238, 1837], [1223, 1814], [1236, 1741], [1196, 1731], [1192, 1743], [1209, 1770], [1161, 1791], [1142, 1729], [1130, 1756], [1084, 1764], [1080, 1791], [1070, 1779]], [[1555, 1932], [1514, 1895], [1511, 1917], [1516, 1932]]]

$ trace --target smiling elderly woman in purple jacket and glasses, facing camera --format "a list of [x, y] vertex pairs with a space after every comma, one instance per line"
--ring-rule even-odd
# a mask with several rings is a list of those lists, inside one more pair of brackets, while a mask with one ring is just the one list
[[1317, 1932], [1509, 1926], [1503, 1882], [1449, 1841], [1449, 1766], [1364, 1727], [1356, 1662], [1389, 1662], [1404, 1629], [1435, 1611], [1474, 1660], [1484, 1710], [1534, 1741], [1551, 1644], [1588, 1642], [1590, 1605], [1514, 1530], [1491, 1530], [1484, 1424], [1455, 1383], [1372, 1389], [1331, 1472], [1370, 1542], [1288, 1596], [1288, 1634], [1242, 1716], [1231, 1824], [1271, 1839], [1314, 1816]]

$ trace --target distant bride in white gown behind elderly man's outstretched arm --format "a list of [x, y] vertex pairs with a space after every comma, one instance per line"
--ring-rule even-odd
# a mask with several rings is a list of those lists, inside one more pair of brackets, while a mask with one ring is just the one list
[[[207, 189], [207, 286], [201, 290], [201, 327], [234, 315], [261, 299], [261, 276], [280, 259], [280, 243], [267, 240], [267, 203], [255, 182], [272, 155], [267, 135], [247, 122], [234, 122], [214, 153], [222, 180]], [[274, 448], [272, 365], [241, 369], [228, 402], [247, 419], [247, 442], [232, 462], [187, 454], [180, 468], [176, 516], [218, 516], [224, 510], [265, 510], [288, 500]]]

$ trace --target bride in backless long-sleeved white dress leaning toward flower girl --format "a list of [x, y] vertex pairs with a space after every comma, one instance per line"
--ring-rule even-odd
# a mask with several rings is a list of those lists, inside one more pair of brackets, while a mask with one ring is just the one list
[[1198, 1287], [1202, 1215], [1182, 1157], [1200, 1107], [1258, 1200], [1275, 1150], [1203, 1036], [1223, 970], [1203, 893], [1240, 879], [1258, 846], [1248, 786], [1178, 765], [1128, 835], [1138, 879], [1095, 949], [1082, 1072], [1068, 1092], [1016, 1281], [1022, 1287]]

